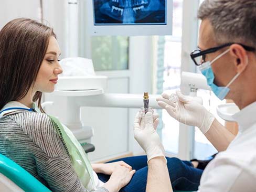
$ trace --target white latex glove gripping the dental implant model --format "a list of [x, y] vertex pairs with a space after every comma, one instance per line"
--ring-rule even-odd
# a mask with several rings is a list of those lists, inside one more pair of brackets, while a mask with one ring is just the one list
[[134, 138], [146, 152], [147, 162], [154, 157], [165, 157], [164, 146], [156, 133], [158, 119], [153, 122], [152, 113], [147, 112], [145, 115], [145, 127], [143, 127], [141, 121], [140, 113], [137, 113], [134, 120]]

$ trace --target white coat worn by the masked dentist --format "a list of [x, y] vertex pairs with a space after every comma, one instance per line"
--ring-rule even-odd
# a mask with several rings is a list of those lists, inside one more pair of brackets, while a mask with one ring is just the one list
[[200, 192], [256, 191], [256, 102], [233, 115], [239, 134], [204, 170]]

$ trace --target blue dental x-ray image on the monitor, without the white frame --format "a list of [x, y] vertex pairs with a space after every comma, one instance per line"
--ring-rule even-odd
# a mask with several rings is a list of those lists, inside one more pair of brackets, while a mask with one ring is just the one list
[[94, 25], [166, 25], [167, 0], [93, 0]]

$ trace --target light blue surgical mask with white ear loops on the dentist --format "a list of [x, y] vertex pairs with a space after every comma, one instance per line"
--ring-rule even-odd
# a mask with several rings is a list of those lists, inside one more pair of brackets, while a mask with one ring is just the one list
[[231, 81], [227, 84], [226, 87], [219, 87], [216, 84], [214, 84], [214, 72], [212, 71], [211, 65], [214, 63], [217, 59], [222, 57], [223, 55], [227, 54], [230, 49], [226, 50], [222, 54], [220, 54], [218, 57], [216, 57], [214, 60], [207, 61], [202, 63], [202, 65], [198, 66], [198, 69], [201, 71], [201, 73], [206, 77], [208, 86], [211, 87], [211, 90], [214, 92], [214, 94], [220, 99], [223, 100], [226, 98], [227, 94], [229, 93], [230, 89], [228, 88], [234, 80], [238, 78], [240, 73], [237, 73], [236, 76], [231, 79]]

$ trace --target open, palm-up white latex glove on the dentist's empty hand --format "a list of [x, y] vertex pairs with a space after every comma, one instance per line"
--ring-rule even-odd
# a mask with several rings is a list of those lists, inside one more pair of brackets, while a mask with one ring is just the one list
[[215, 116], [208, 112], [204, 106], [193, 97], [176, 91], [177, 101], [170, 101], [169, 94], [163, 93], [162, 98], [157, 98], [158, 105], [166, 109], [170, 116], [177, 121], [190, 126], [197, 126], [202, 133], [206, 133], [214, 122]]

